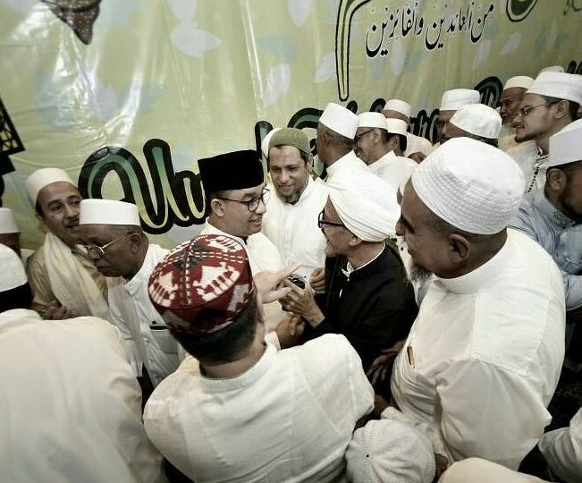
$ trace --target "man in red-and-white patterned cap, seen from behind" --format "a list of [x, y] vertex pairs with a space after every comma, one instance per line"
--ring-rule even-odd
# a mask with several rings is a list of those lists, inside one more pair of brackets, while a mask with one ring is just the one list
[[[373, 391], [341, 335], [277, 352], [239, 242], [182, 243], [151, 276], [149, 293], [192, 357], [156, 387], [148, 436], [195, 481], [334, 481]], [[196, 359], [194, 359], [196, 358]]]

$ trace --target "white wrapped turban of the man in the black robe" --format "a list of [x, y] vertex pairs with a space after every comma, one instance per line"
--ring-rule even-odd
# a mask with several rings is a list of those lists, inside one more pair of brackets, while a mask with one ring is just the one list
[[343, 170], [328, 178], [325, 185], [333, 208], [346, 228], [365, 242], [382, 242], [394, 235], [401, 216], [396, 190], [365, 170]]

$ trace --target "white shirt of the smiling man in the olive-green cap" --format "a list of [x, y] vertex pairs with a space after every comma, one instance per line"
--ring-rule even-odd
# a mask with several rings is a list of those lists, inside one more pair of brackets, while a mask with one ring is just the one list
[[[273, 186], [270, 189], [275, 191]], [[275, 193], [263, 216], [262, 232], [279, 250], [284, 266], [299, 263], [297, 272], [307, 279], [316, 267], [325, 264], [325, 236], [317, 228], [317, 216], [324, 209], [327, 196], [325, 184], [309, 177], [297, 203], [286, 203]]]

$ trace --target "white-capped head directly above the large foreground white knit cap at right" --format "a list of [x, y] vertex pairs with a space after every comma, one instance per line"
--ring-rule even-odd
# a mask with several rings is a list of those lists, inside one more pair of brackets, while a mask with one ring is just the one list
[[502, 129], [502, 118], [485, 104], [462, 106], [443, 130], [444, 141], [452, 138], [471, 138], [497, 148], [497, 138]]

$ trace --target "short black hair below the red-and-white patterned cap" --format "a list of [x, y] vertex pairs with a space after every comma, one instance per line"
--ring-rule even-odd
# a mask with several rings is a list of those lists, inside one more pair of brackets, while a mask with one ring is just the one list
[[[215, 318], [221, 314], [216, 310], [202, 310], [198, 318]], [[230, 326], [215, 332], [215, 334], [190, 335], [168, 326], [173, 337], [191, 356], [198, 360], [212, 362], [232, 362], [240, 359], [246, 352], [257, 333], [257, 296], [253, 296], [249, 305], [242, 309]]]

